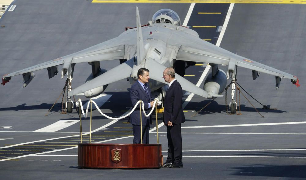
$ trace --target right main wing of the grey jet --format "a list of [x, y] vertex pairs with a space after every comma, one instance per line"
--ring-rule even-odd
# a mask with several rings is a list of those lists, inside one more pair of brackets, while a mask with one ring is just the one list
[[202, 39], [194, 38], [192, 40], [182, 42], [184, 42], [184, 44], [180, 43], [181, 47], [177, 53], [177, 60], [226, 65], [228, 65], [230, 61], [233, 61], [235, 65], [243, 68], [275, 75], [281, 78], [293, 79], [295, 81], [297, 80], [296, 76], [231, 53], [230, 51], [224, 50], [209, 42], [203, 41]]

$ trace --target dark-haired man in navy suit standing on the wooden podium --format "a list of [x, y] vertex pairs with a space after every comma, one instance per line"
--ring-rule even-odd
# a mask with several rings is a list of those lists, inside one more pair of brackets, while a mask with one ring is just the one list
[[[133, 107], [136, 105], [137, 101], [142, 100], [144, 102], [144, 109], [146, 114], [150, 112], [150, 108], [153, 106], [154, 101], [151, 96], [151, 90], [149, 87], [149, 70], [146, 68], [140, 68], [137, 72], [138, 80], [130, 88], [130, 97]], [[140, 131], [140, 109], [138, 107], [129, 116], [128, 122], [133, 125], [133, 143], [141, 143], [141, 131]], [[141, 111], [142, 119], [142, 139], [144, 144], [149, 144], [149, 131], [150, 124], [152, 124], [151, 116], [144, 116], [143, 111]]]

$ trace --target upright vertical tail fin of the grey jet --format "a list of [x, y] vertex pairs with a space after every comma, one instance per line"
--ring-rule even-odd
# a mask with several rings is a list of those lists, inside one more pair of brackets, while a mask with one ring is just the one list
[[136, 28], [137, 28], [137, 65], [139, 65], [145, 58], [144, 38], [141, 31], [141, 23], [138, 7], [136, 6]]

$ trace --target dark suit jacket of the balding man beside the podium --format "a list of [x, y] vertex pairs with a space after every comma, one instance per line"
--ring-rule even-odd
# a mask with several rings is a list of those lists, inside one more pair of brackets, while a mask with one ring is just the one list
[[185, 122], [182, 107], [183, 90], [180, 83], [175, 80], [166, 92], [164, 98], [164, 123], [171, 121], [174, 124]]

